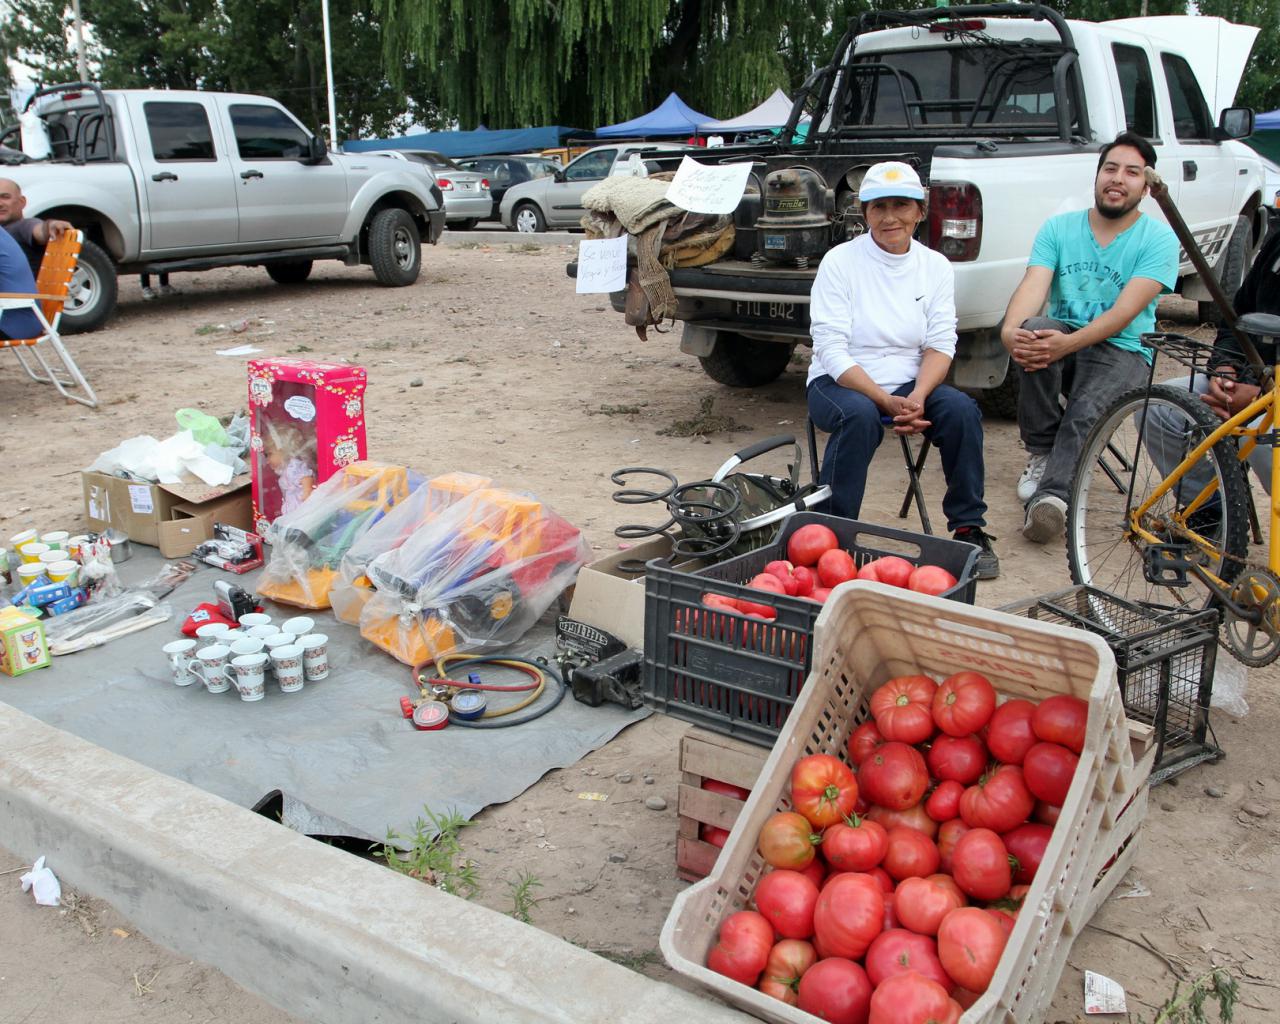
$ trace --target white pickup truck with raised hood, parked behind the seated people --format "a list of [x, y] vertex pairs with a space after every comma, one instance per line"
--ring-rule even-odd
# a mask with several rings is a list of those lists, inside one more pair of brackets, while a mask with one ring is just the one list
[[[1157, 172], [1231, 294], [1266, 230], [1262, 163], [1234, 141], [1252, 132], [1253, 115], [1230, 108], [1256, 35], [1202, 17], [1074, 22], [1038, 4], [864, 14], [796, 100], [780, 138], [792, 140], [808, 115], [803, 142], [698, 155], [753, 160], [756, 189], [735, 214], [731, 259], [671, 273], [681, 349], [733, 387], [782, 374], [795, 346], [809, 343], [822, 251], [865, 229], [861, 175], [906, 160], [931, 186], [922, 241], [955, 264], [954, 381], [1007, 413], [1016, 376], [1006, 378], [997, 328], [1032, 241], [1050, 216], [1092, 205], [1098, 148], [1126, 129], [1151, 140]], [[814, 172], [823, 195], [772, 205], [751, 195], [785, 168]], [[1143, 209], [1162, 216], [1151, 200]], [[797, 232], [826, 232], [812, 262], [771, 256], [771, 244], [788, 244], [788, 216]], [[1183, 257], [1179, 291], [1207, 306]], [[623, 293], [612, 298], [621, 311]]]

